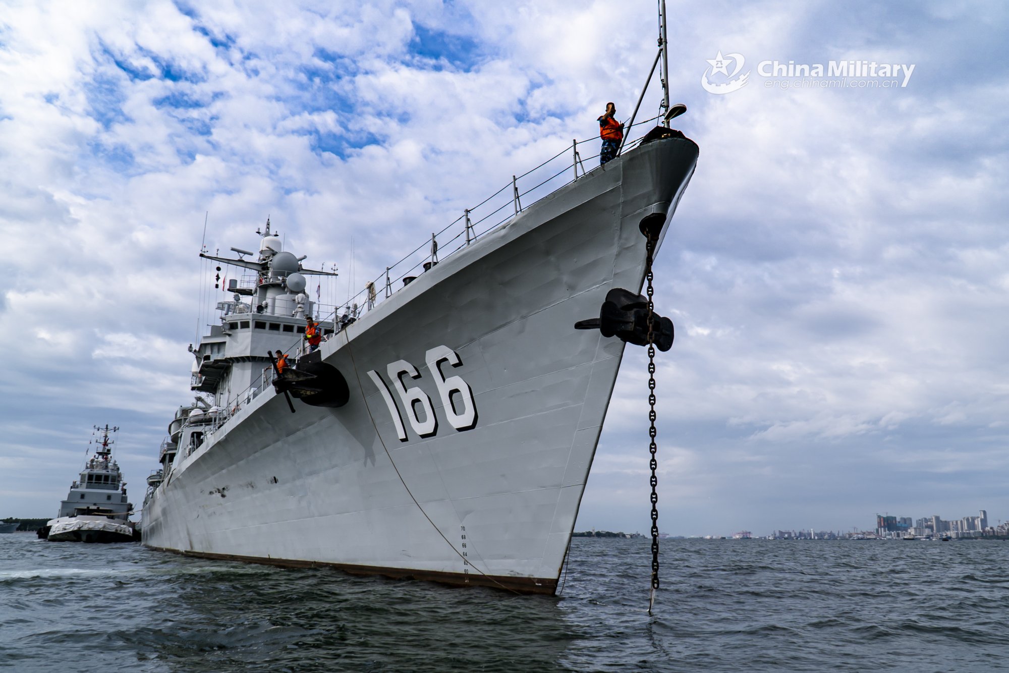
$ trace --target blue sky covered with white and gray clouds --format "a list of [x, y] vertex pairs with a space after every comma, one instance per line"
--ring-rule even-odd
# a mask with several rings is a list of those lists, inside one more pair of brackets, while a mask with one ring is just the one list
[[[1009, 8], [667, 4], [700, 158], [656, 264], [660, 529], [1009, 520]], [[5, 3], [0, 517], [54, 516], [105, 423], [142, 501], [215, 298], [204, 240], [268, 216], [343, 301], [607, 101], [630, 116], [656, 5], [614, 7]], [[775, 61], [913, 70], [813, 87]], [[645, 366], [629, 348], [578, 530], [649, 529]]]

